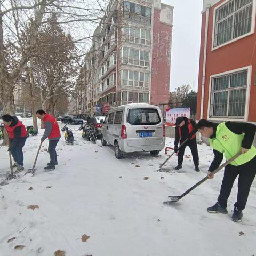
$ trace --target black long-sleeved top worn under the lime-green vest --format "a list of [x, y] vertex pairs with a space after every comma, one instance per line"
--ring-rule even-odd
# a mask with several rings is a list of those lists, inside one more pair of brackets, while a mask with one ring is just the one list
[[[216, 130], [217, 126], [219, 124], [213, 123], [213, 135], [210, 137], [210, 139], [216, 138]], [[241, 147], [250, 149], [254, 140], [254, 135], [256, 132], [256, 125], [251, 123], [242, 123], [242, 122], [226, 122], [226, 126], [231, 132], [234, 132], [235, 134], [242, 134], [244, 133], [244, 139], [242, 141]], [[209, 172], [213, 172], [215, 169], [217, 169], [222, 160], [223, 160], [223, 153], [213, 149], [214, 153], [214, 159], [209, 167]]]

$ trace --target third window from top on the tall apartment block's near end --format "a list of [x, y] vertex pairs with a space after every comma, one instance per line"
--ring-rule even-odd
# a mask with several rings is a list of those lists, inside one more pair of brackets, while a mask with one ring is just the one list
[[122, 47], [120, 55], [123, 64], [149, 68], [149, 52], [130, 47]]

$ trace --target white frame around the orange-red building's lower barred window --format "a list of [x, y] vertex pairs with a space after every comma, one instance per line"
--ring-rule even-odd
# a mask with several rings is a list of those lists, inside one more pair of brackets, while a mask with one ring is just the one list
[[[236, 73], [242, 70], [247, 69], [247, 86], [246, 86], [246, 98], [245, 98], [245, 110], [244, 110], [244, 118], [228, 118], [228, 117], [210, 117], [210, 107], [211, 107], [211, 89], [212, 89], [212, 78], [223, 76], [223, 75], [229, 75], [231, 73]], [[249, 99], [250, 99], [250, 92], [251, 92], [251, 83], [252, 83], [252, 66], [247, 66], [243, 68], [228, 70], [223, 73], [214, 74], [210, 76], [209, 81], [209, 95], [208, 95], [208, 109], [207, 109], [207, 119], [209, 121], [220, 121], [220, 120], [228, 120], [228, 121], [248, 121], [248, 115], [249, 115]]]

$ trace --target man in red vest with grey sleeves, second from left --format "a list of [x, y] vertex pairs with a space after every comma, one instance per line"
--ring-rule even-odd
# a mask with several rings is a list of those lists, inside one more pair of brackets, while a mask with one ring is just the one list
[[47, 113], [45, 113], [44, 110], [39, 109], [36, 111], [36, 116], [44, 121], [44, 135], [41, 138], [41, 141], [43, 142], [46, 138], [49, 139], [49, 146], [48, 146], [48, 152], [50, 155], [50, 163], [47, 164], [47, 166], [44, 168], [45, 170], [54, 170], [55, 165], [58, 164], [57, 162], [57, 153], [56, 153], [56, 146], [60, 140], [60, 128], [58, 125], [58, 122], [54, 118], [54, 116], [51, 116]]

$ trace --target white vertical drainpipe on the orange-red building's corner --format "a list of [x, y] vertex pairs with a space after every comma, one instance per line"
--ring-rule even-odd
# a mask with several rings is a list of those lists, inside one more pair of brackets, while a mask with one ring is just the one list
[[206, 7], [206, 22], [205, 22], [205, 34], [204, 34], [203, 79], [202, 79], [200, 119], [203, 119], [203, 109], [204, 109], [205, 66], [206, 66], [206, 57], [207, 57], [207, 38], [208, 38], [209, 10], [210, 10], [210, 7], [211, 7], [211, 5], [208, 5]]

